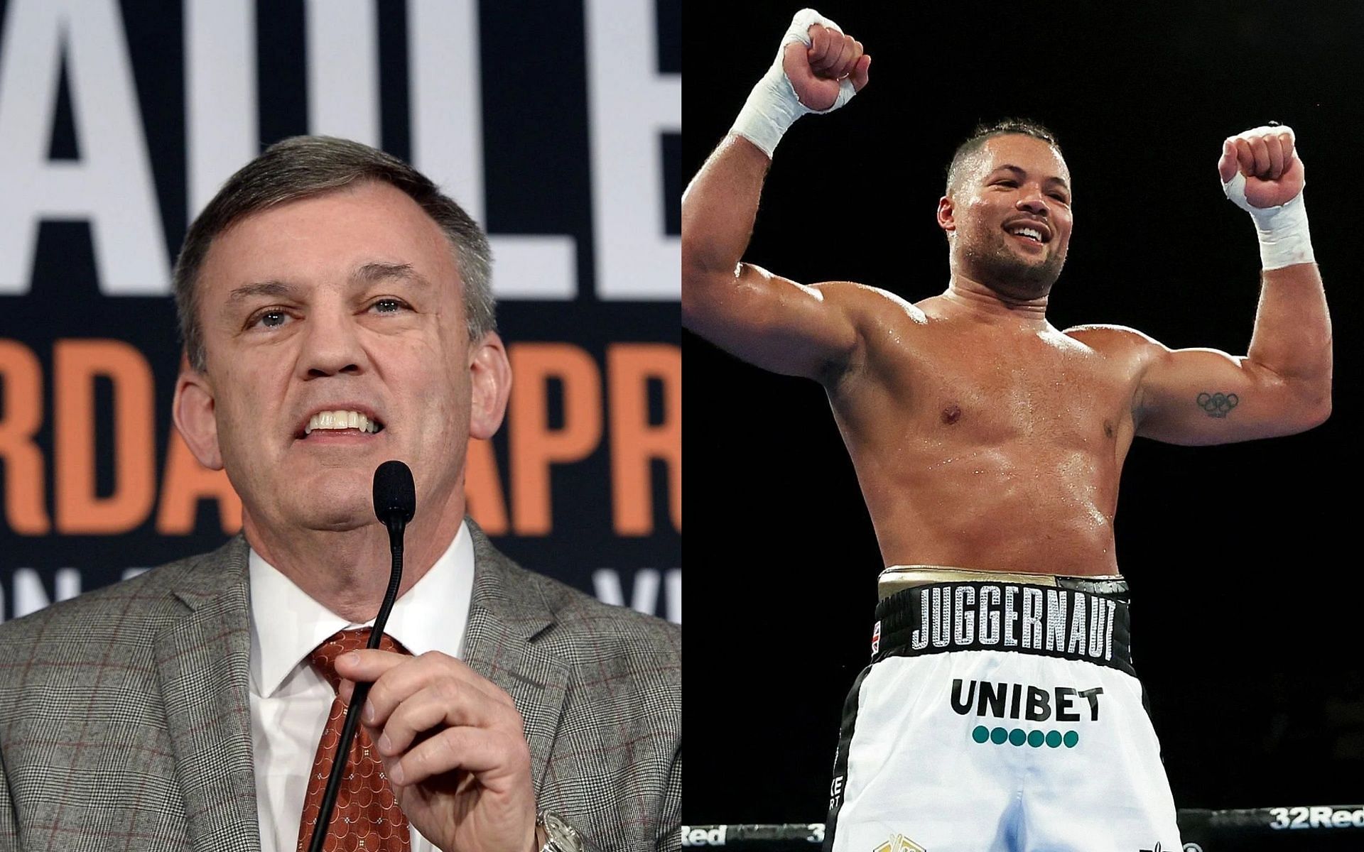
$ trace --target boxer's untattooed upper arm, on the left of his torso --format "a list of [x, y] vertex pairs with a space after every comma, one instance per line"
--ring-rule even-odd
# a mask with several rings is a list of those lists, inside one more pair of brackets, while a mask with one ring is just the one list
[[735, 357], [790, 376], [825, 379], [853, 359], [859, 331], [848, 290], [857, 285], [797, 284], [752, 263], [726, 278], [707, 288], [704, 304], [683, 304], [685, 326]]

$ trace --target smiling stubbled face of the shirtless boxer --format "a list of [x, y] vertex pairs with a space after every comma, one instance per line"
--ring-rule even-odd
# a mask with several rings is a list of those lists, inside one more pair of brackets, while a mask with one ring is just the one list
[[988, 139], [938, 202], [952, 269], [1009, 299], [1050, 292], [1071, 241], [1071, 172], [1050, 144]]

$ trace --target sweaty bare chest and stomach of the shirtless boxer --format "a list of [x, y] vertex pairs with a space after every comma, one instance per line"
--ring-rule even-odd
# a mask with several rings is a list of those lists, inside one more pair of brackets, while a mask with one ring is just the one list
[[885, 564], [1117, 573], [1136, 352], [951, 292], [910, 305], [824, 289], [874, 330], [828, 393]]

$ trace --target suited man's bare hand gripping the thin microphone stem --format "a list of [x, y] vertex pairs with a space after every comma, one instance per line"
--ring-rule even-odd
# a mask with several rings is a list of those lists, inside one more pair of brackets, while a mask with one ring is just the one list
[[512, 697], [468, 665], [356, 650], [337, 658], [341, 698], [372, 680], [360, 716], [398, 807], [445, 852], [531, 852], [531, 751]]

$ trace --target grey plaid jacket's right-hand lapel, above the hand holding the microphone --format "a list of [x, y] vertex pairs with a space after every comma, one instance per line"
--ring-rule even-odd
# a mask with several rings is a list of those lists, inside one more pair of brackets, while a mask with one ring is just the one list
[[537, 583], [499, 553], [472, 519], [473, 596], [464, 634], [464, 661], [516, 702], [531, 747], [536, 791], [554, 748], [569, 688], [569, 665], [532, 639], [554, 624]]

